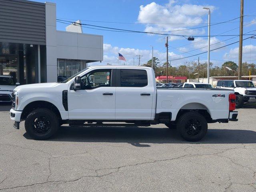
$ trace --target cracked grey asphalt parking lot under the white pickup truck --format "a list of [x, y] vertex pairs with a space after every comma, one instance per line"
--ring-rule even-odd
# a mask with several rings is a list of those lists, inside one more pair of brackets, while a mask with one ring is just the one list
[[0, 106], [0, 191], [256, 191], [256, 107], [238, 122], [209, 124], [186, 142], [163, 124], [151, 127], [62, 126], [50, 140], [12, 127]]

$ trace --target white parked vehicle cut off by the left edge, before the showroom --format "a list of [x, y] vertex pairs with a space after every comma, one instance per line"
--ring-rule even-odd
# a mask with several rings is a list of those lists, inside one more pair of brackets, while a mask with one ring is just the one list
[[[16, 83], [19, 85], [19, 83]], [[11, 102], [12, 91], [15, 88], [14, 78], [10, 75], [0, 75], [0, 102]]]

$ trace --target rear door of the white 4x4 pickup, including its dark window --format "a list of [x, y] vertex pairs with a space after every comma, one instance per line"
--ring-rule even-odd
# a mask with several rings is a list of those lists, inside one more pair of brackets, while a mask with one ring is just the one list
[[153, 84], [148, 69], [116, 70], [116, 120], [150, 120]]

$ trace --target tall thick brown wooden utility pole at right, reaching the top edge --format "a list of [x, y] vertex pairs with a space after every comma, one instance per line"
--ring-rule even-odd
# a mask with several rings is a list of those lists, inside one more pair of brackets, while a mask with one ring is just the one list
[[242, 76], [242, 53], [243, 53], [243, 24], [244, 24], [244, 0], [240, 0], [240, 36], [238, 53], [238, 80]]

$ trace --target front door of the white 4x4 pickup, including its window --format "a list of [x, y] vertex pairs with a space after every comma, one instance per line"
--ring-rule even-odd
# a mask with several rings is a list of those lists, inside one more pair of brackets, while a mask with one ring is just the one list
[[114, 120], [116, 69], [92, 70], [81, 77], [81, 90], [68, 92], [70, 120]]

